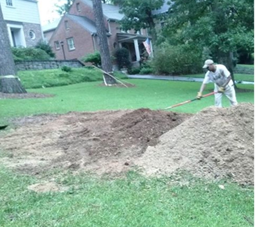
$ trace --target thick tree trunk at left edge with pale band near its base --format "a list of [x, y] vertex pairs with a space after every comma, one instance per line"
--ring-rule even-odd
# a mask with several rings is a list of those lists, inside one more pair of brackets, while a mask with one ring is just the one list
[[16, 75], [7, 27], [0, 5], [0, 92], [26, 93]]

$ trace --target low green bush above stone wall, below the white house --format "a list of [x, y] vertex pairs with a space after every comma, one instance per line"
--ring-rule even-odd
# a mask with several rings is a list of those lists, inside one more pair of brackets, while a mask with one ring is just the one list
[[12, 47], [13, 59], [15, 61], [50, 60], [51, 56], [43, 49], [34, 47]]

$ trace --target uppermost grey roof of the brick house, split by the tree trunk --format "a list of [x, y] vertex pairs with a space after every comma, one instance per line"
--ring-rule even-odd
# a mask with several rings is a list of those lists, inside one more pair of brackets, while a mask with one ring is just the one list
[[[81, 1], [93, 8], [93, 3], [91, 0], [81, 0]], [[107, 19], [121, 20], [124, 15], [120, 13], [119, 10], [120, 10], [119, 6], [102, 3], [103, 15], [107, 17]]]

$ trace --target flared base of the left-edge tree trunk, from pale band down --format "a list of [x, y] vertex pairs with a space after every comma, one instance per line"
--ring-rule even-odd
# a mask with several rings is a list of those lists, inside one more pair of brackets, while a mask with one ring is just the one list
[[18, 76], [0, 76], [0, 92], [2, 93], [27, 93], [22, 87]]

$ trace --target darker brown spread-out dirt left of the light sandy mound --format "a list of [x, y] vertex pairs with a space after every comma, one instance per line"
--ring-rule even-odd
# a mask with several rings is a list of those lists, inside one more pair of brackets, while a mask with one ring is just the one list
[[29, 173], [54, 167], [120, 172], [190, 116], [139, 109], [18, 118], [13, 123], [21, 126], [0, 138], [9, 157], [2, 161]]

